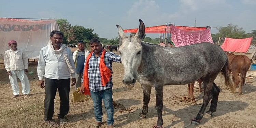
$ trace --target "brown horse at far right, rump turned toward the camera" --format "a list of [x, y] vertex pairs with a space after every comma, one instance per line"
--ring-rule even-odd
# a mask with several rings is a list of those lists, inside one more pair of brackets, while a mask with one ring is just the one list
[[[234, 89], [236, 90], [239, 84], [239, 95], [242, 95], [242, 86], [245, 83], [246, 72], [251, 66], [251, 60], [245, 55], [234, 55], [234, 52], [226, 52], [229, 59], [229, 71], [232, 72], [232, 80]], [[239, 74], [240, 79], [239, 79]]]

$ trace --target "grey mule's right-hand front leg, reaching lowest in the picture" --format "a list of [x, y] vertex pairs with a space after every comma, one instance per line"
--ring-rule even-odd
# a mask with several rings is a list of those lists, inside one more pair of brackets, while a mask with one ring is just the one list
[[156, 92], [156, 110], [157, 110], [157, 125], [155, 128], [161, 128], [163, 125], [162, 110], [163, 110], [163, 85], [155, 85]]

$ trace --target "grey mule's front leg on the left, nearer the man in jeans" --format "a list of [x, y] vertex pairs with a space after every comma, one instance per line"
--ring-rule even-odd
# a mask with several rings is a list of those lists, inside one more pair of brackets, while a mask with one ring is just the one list
[[150, 94], [151, 94], [151, 88], [145, 85], [141, 85], [143, 90], [143, 109], [142, 113], [140, 114], [141, 118], [146, 118], [146, 114], [148, 111], [148, 102], [150, 101]]

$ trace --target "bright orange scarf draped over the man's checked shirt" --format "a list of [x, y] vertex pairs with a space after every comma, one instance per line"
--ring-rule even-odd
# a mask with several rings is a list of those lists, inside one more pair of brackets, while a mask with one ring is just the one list
[[[106, 86], [106, 83], [109, 82], [110, 77], [111, 77], [111, 70], [106, 67], [105, 63], [104, 63], [104, 55], [105, 55], [105, 50], [102, 49], [102, 54], [100, 57], [100, 77], [101, 77], [101, 83], [102, 86]], [[93, 55], [93, 52], [91, 52], [87, 58], [86, 58], [86, 64], [84, 67], [84, 95], [91, 95], [90, 94], [90, 89], [89, 89], [89, 77], [88, 77], [88, 69], [89, 69], [89, 59], [91, 58], [91, 56]]]

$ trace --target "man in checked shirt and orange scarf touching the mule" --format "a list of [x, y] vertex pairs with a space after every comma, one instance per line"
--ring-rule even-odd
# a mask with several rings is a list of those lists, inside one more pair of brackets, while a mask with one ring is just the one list
[[[108, 128], [115, 128], [113, 126], [114, 108], [112, 104], [112, 62], [120, 63], [121, 57], [112, 52], [106, 52], [104, 49], [102, 49], [102, 46], [98, 39], [91, 39], [89, 42], [89, 46], [92, 52], [88, 55], [87, 59], [85, 60], [84, 75], [81, 80], [82, 84], [80, 90], [85, 95], [90, 95], [91, 99], [93, 99], [94, 115], [96, 119], [96, 122], [93, 124], [94, 127], [99, 128], [102, 124], [101, 104], [103, 100], [106, 109], [106, 114], [108, 116], [108, 119], [106, 120]], [[106, 76], [108, 78], [101, 77], [101, 72], [104, 68], [108, 68], [105, 70], [109, 70], [109, 75]]]

